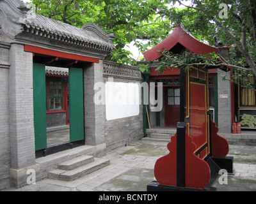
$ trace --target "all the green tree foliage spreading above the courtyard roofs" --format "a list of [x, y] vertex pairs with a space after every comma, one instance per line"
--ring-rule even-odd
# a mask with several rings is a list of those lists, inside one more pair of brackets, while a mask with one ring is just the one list
[[[94, 23], [107, 33], [114, 33], [115, 49], [108, 56], [112, 61], [136, 64], [131, 57], [132, 53], [125, 50], [125, 45], [134, 41], [134, 45], [144, 52], [163, 41], [173, 27], [182, 24], [188, 33], [211, 46], [216, 42], [232, 45], [228, 63], [251, 68], [256, 75], [253, 69], [256, 59], [256, 3], [253, 0], [31, 0], [31, 3], [35, 4], [37, 13], [46, 17], [76, 27]], [[175, 8], [175, 3], [186, 3], [187, 6]], [[228, 5], [227, 18], [220, 18], [221, 3]], [[141, 40], [148, 41], [145, 44]], [[243, 55], [238, 61], [237, 51]], [[173, 57], [172, 61], [170, 57]], [[173, 66], [192, 62], [216, 63], [216, 56], [211, 55], [197, 55], [195, 59], [193, 54], [186, 53], [183, 57], [184, 59], [180, 59], [178, 55], [163, 57], [159, 71], [164, 71], [166, 62]], [[166, 61], [165, 64], [163, 61]], [[139, 68], [143, 71], [147, 69], [141, 65]], [[237, 73], [234, 72], [234, 75]]]

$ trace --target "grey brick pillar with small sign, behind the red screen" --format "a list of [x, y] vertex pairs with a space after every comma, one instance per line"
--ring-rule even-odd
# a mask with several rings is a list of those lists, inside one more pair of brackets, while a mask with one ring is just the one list
[[[231, 84], [223, 81], [222, 76], [230, 79], [230, 72], [218, 69], [218, 133], [230, 133], [232, 129], [231, 115]], [[221, 98], [223, 95], [224, 98]]]

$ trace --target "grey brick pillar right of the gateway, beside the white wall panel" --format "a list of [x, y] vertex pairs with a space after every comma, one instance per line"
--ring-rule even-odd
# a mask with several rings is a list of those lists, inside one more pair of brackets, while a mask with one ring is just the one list
[[102, 60], [84, 69], [84, 129], [86, 145], [100, 145], [104, 140], [104, 105], [95, 105], [94, 84], [103, 82]]

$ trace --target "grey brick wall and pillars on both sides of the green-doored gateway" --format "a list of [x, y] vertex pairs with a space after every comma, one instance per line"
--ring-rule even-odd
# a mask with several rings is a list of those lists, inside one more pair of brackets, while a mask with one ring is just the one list
[[[33, 54], [24, 52], [24, 46], [17, 43], [12, 46], [5, 43], [3, 47], [0, 47], [0, 189], [26, 184], [26, 170], [35, 166]], [[93, 101], [97, 92], [94, 84], [106, 82], [102, 70], [102, 60], [84, 68], [84, 129], [87, 145], [106, 143], [109, 150], [143, 136], [143, 111], [141, 105], [139, 115], [107, 121], [106, 106], [95, 105]], [[122, 77], [114, 81], [142, 82], [142, 78]]]

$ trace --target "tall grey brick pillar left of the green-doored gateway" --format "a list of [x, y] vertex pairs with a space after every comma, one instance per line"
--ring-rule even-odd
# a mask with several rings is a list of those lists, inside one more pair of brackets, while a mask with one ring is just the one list
[[26, 184], [26, 169], [35, 168], [33, 54], [13, 43], [10, 48], [10, 143], [14, 186]]

